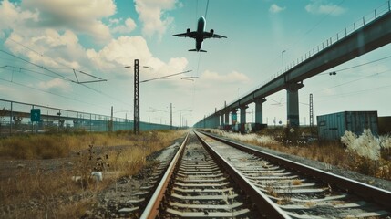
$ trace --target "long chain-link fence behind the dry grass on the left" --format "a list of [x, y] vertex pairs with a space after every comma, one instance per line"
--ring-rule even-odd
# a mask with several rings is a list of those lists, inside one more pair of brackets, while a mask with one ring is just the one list
[[[36, 117], [33, 109], [39, 109]], [[0, 99], [0, 135], [116, 130], [133, 130], [133, 120]], [[170, 130], [170, 125], [140, 122], [140, 130]]]

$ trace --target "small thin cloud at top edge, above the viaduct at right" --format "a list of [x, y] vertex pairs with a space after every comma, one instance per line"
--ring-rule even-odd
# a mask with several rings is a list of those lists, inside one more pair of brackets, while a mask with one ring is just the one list
[[340, 16], [345, 13], [345, 8], [339, 5], [328, 4], [321, 0], [313, 0], [310, 4], [305, 5], [305, 10], [314, 15], [331, 15]]

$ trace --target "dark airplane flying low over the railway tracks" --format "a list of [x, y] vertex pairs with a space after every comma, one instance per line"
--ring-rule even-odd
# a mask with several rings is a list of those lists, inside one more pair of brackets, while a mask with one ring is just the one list
[[206, 38], [226, 38], [227, 36], [221, 36], [221, 35], [214, 34], [214, 30], [213, 29], [211, 29], [211, 32], [206, 32], [205, 31], [205, 26], [206, 26], [205, 17], [201, 16], [198, 19], [197, 31], [190, 31], [190, 28], [188, 28], [186, 30], [186, 33], [172, 35], [172, 36], [194, 38], [196, 40], [196, 48], [195, 49], [189, 49], [189, 51], [206, 52], [206, 50], [201, 49], [202, 41], [204, 39], [206, 39]]

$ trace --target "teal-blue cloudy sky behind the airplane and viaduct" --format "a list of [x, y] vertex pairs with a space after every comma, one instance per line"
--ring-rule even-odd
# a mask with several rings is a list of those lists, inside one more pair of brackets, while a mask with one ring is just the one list
[[[172, 103], [173, 125], [191, 126], [386, 8], [386, 0], [2, 0], [0, 99], [104, 115], [113, 106], [115, 117], [133, 118], [139, 59], [140, 80], [193, 78], [141, 83], [140, 119], [170, 124]], [[207, 53], [189, 52], [193, 39], [172, 36], [195, 30], [200, 16], [207, 31], [227, 36], [206, 39]], [[391, 116], [389, 51], [380, 47], [304, 80], [301, 124], [309, 124], [310, 93], [315, 116]], [[97, 78], [105, 81], [76, 83]], [[285, 124], [286, 90], [266, 99], [263, 123]], [[250, 104], [247, 122], [253, 111]]]

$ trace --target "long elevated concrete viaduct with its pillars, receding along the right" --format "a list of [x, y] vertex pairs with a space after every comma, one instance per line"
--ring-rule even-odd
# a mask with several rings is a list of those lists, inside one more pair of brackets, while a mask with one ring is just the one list
[[[376, 12], [375, 12], [376, 13]], [[255, 103], [255, 127], [262, 124], [262, 103], [266, 97], [282, 89], [287, 93], [287, 124], [289, 127], [299, 126], [299, 89], [304, 87], [303, 81], [311, 78], [327, 69], [334, 68], [355, 57], [364, 55], [378, 47], [383, 47], [391, 42], [391, 12], [390, 3], [382, 16], [376, 16], [371, 22], [357, 28], [354, 32], [346, 34], [342, 38], [337, 38], [335, 42], [327, 40], [326, 47], [314, 53], [311, 52], [301, 63], [283, 72], [280, 76], [273, 78], [259, 89], [255, 89], [241, 99], [237, 99], [224, 106], [221, 110], [215, 110], [210, 116], [197, 122], [195, 128], [218, 128], [229, 125], [230, 113], [232, 118], [236, 118], [237, 111], [240, 110], [241, 121], [246, 121], [247, 105]], [[345, 29], [346, 31], [346, 29]], [[338, 36], [337, 36], [338, 37]]]

